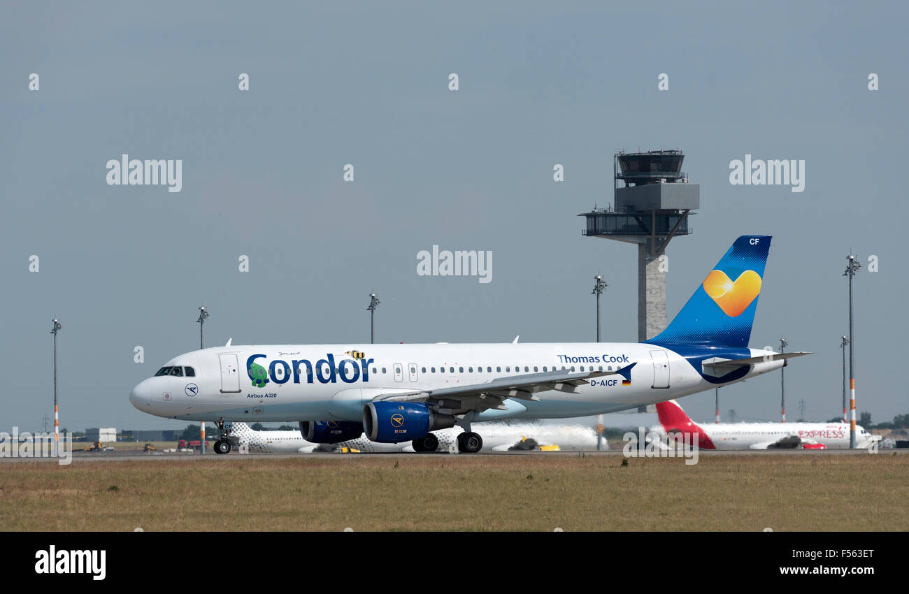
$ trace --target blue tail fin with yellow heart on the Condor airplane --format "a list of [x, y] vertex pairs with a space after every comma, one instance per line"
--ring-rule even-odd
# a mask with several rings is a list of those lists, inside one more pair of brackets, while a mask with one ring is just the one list
[[646, 342], [748, 346], [769, 250], [770, 235], [739, 237], [669, 326]]

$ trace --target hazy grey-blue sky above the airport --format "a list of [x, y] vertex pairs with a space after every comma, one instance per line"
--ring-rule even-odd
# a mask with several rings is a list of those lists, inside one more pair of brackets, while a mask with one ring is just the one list
[[[694, 233], [667, 250], [668, 317], [737, 236], [773, 235], [751, 346], [814, 352], [786, 368], [787, 418], [801, 401], [833, 418], [854, 252], [857, 409], [909, 412], [907, 12], [5, 3], [0, 431], [53, 424], [54, 317], [71, 431], [185, 425], [127, 398], [198, 347], [201, 304], [207, 346], [368, 342], [373, 291], [376, 342], [592, 342], [602, 273], [604, 341], [634, 342], [636, 249], [584, 237], [576, 215], [612, 203], [614, 153], [660, 148], [684, 152], [701, 192]], [[182, 160], [181, 191], [108, 184], [124, 153]], [[731, 184], [745, 154], [804, 160], [804, 192]], [[491, 251], [491, 282], [417, 274], [433, 245]], [[726, 418], [779, 419], [778, 373], [720, 396]], [[714, 391], [682, 403], [713, 419]]]

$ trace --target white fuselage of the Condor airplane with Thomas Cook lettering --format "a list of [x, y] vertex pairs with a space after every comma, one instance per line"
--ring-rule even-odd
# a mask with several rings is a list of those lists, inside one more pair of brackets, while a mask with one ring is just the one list
[[[743, 349], [762, 357], [773, 351]], [[356, 358], [362, 353], [362, 358]], [[727, 357], [729, 358], [729, 357]], [[256, 381], [250, 369], [263, 366]], [[376, 396], [482, 384], [527, 373], [617, 371], [632, 362], [630, 382], [598, 377], [574, 393], [541, 391], [539, 401], [504, 401], [505, 410], [470, 421], [569, 418], [623, 411], [713, 389], [683, 356], [647, 343], [334, 344], [225, 346], [168, 361], [182, 375], [148, 378], [130, 393], [136, 408], [190, 421], [361, 421]], [[784, 361], [752, 364], [732, 381], [779, 369]], [[187, 377], [185, 367], [194, 375]], [[266, 375], [267, 372], [267, 375]], [[729, 381], [729, 382], [732, 382]], [[445, 411], [445, 402], [440, 404]]]

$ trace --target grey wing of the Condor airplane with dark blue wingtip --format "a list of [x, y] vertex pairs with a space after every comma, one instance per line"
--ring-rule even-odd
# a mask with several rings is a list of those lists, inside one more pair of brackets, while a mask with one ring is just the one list
[[509, 398], [539, 401], [540, 399], [535, 394], [541, 391], [558, 390], [576, 393], [578, 386], [582, 386], [594, 378], [607, 375], [621, 375], [625, 380], [631, 381], [631, 370], [636, 364], [635, 361], [615, 371], [558, 370], [527, 373], [454, 388], [379, 394], [373, 400], [426, 402], [440, 408], [464, 411], [485, 411], [487, 409], [507, 411], [508, 407], [503, 402]]

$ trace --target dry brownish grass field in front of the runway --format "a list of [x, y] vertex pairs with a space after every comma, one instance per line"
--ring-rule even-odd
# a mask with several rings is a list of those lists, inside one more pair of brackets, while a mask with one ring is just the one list
[[909, 530], [909, 456], [0, 463], [0, 530]]

